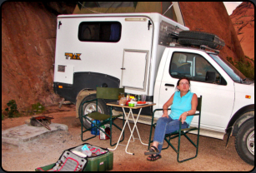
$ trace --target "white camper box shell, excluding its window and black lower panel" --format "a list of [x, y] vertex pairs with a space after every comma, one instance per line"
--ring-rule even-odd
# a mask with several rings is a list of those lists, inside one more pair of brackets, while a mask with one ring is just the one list
[[[81, 22], [120, 22], [122, 25], [119, 42], [81, 42], [78, 39], [78, 27]], [[151, 25], [148, 25], [148, 21]], [[153, 96], [153, 86], [157, 76], [158, 64], [166, 46], [158, 44], [160, 23], [164, 21], [174, 26], [188, 30], [177, 22], [158, 13], [116, 13], [116, 14], [80, 14], [60, 15], [57, 27], [56, 55], [54, 82], [73, 84], [73, 72], [98, 72], [120, 79], [120, 87], [126, 87], [126, 92], [133, 94], [148, 94]], [[149, 26], [149, 29], [148, 29]], [[147, 52], [146, 61], [136, 61], [135, 56], [125, 59], [125, 51], [133, 53]], [[71, 59], [65, 53], [79, 54], [78, 59]], [[129, 56], [128, 56], [129, 57]], [[124, 60], [129, 67], [143, 69], [144, 82], [140, 84], [129, 83], [129, 76], [122, 76]], [[138, 63], [140, 62], [140, 63]], [[126, 63], [128, 64], [128, 63]], [[58, 72], [58, 65], [69, 69]], [[145, 65], [147, 67], [145, 67]], [[73, 67], [73, 68], [72, 68]], [[134, 68], [126, 69], [126, 74]], [[135, 68], [135, 69], [136, 69]], [[71, 72], [73, 69], [73, 72]], [[122, 78], [128, 77], [128, 78]], [[143, 85], [143, 87], [141, 86]]]

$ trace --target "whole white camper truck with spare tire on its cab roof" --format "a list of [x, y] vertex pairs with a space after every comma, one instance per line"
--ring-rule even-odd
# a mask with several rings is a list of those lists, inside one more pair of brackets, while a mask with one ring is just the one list
[[[254, 84], [215, 50], [175, 46], [177, 40], [214, 49], [224, 45], [213, 34], [188, 30], [158, 13], [59, 15], [54, 91], [76, 104], [77, 117], [81, 101], [94, 98], [96, 87], [146, 94], [156, 106], [144, 109], [138, 121], [150, 124], [153, 109], [172, 96], [178, 78], [188, 77], [191, 91], [203, 96], [200, 135], [236, 136], [239, 156], [253, 165]], [[108, 112], [103, 102], [98, 109]], [[85, 104], [83, 110], [94, 111], [95, 104]], [[90, 124], [83, 120], [83, 126]]]

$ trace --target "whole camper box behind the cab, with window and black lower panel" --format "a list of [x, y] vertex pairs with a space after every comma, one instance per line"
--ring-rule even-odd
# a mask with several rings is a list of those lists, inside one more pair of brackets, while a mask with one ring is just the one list
[[[120, 29], [114, 41], [83, 37], [86, 27], [92, 35], [101, 35], [100, 30], [111, 30], [111, 25]], [[182, 30], [188, 27], [158, 13], [60, 15], [54, 84], [63, 88], [54, 88], [73, 103], [81, 90], [104, 86], [125, 87], [128, 93], [152, 97], [158, 65], [170, 42], [168, 33]]]

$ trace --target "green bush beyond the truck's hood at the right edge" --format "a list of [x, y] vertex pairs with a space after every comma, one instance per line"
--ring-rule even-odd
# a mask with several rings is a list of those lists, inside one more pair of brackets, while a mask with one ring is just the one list
[[[248, 58], [254, 63], [253, 59], [247, 56], [245, 56], [245, 58]], [[232, 57], [227, 57], [227, 60], [236, 67], [238, 71], [242, 72], [245, 77], [254, 81], [254, 66], [250, 62], [245, 61], [244, 58], [240, 58], [238, 62], [233, 62]]]

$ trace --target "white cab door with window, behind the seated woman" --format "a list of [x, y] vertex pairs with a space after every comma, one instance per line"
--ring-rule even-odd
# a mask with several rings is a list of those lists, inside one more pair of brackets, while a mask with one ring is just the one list
[[[206, 56], [206, 53], [182, 51], [168, 53], [160, 84], [159, 107], [163, 107], [177, 91], [178, 79], [188, 77], [191, 80], [190, 90], [197, 96], [203, 96], [201, 128], [224, 132], [233, 110], [233, 81], [213, 59], [209, 56], [206, 59]], [[194, 124], [197, 124], [195, 118], [191, 126]]]

